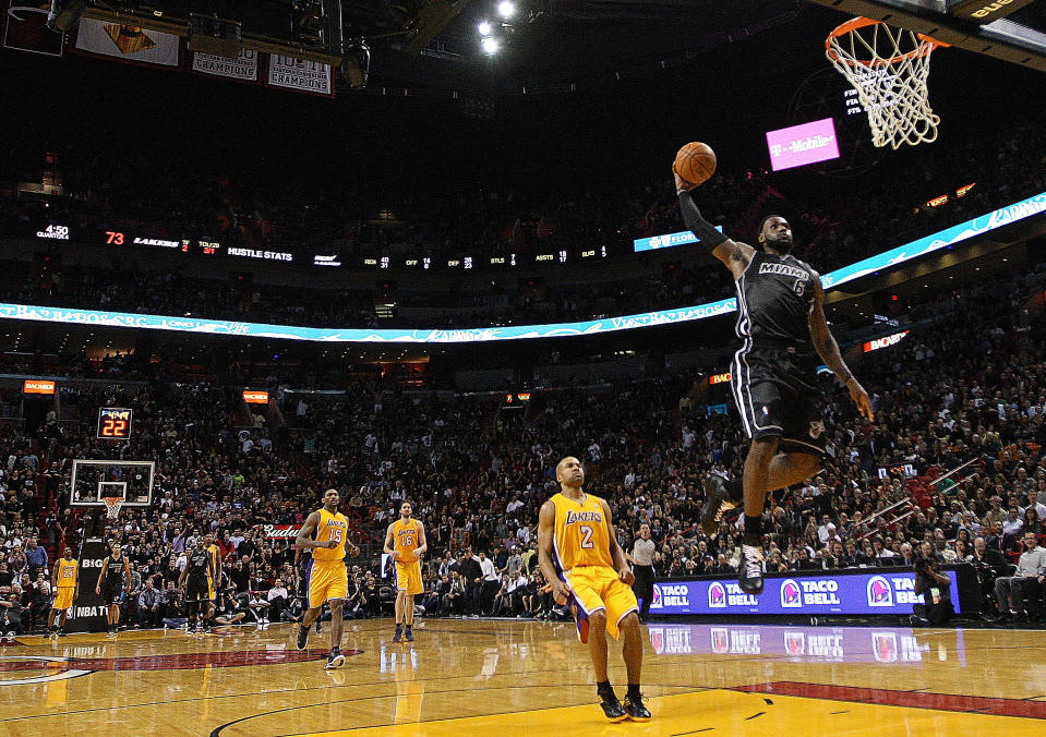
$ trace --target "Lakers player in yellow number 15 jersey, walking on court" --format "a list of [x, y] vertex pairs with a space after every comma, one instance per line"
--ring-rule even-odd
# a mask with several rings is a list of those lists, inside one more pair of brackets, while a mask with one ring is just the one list
[[349, 520], [338, 511], [341, 496], [338, 490], [323, 493], [323, 508], [309, 515], [298, 533], [296, 546], [312, 548], [312, 565], [309, 568], [309, 608], [298, 628], [298, 650], [309, 642], [309, 627], [320, 616], [323, 603], [330, 605], [330, 654], [327, 667], [337, 668], [345, 663], [341, 654], [341, 605], [349, 589], [349, 576], [345, 569], [345, 552], [348, 546], [352, 557], [360, 548], [349, 542]]

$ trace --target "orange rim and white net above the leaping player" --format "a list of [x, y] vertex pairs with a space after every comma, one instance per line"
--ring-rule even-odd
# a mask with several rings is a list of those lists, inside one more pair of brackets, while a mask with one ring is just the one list
[[825, 53], [857, 92], [868, 113], [871, 143], [914, 146], [937, 140], [940, 118], [929, 107], [929, 56], [943, 41], [869, 17], [855, 17], [828, 34]]

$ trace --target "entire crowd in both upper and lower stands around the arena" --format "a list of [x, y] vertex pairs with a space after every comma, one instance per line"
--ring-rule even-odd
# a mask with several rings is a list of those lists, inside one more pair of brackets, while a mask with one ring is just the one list
[[[797, 255], [825, 271], [1046, 190], [1041, 157], [1027, 155], [1043, 149], [1044, 130], [1014, 122], [1000, 134], [987, 166], [974, 142], [967, 148], [919, 149], [919, 177], [885, 178], [876, 184], [881, 191], [865, 193], [859, 208], [791, 205], [766, 172], [729, 170], [701, 190], [701, 206], [710, 219], [725, 222], [728, 232], [752, 232], [768, 209], [799, 213], [795, 226], [806, 238]], [[9, 152], [3, 161], [11, 171], [0, 179], [28, 176], [29, 165], [21, 158], [26, 154]], [[147, 173], [149, 161], [134, 157], [120, 166], [136, 173], [97, 178], [105, 170], [98, 156], [72, 148], [55, 165], [69, 167], [65, 186], [76, 194], [55, 201], [55, 207], [81, 230], [130, 222], [156, 237], [268, 245], [293, 234], [298, 243], [334, 243], [357, 255], [445, 255], [578, 242], [621, 253], [633, 238], [682, 229], [666, 179], [639, 192], [587, 193], [553, 206], [515, 193], [414, 195], [397, 205], [410, 220], [387, 228], [346, 221], [335, 215], [339, 203], [294, 188], [278, 207], [266, 206], [231, 181], [200, 181], [191, 167], [173, 177], [175, 190], [159, 192]], [[943, 194], [974, 182], [946, 206], [918, 206], [927, 192]], [[45, 200], [4, 192], [0, 229], [13, 232], [41, 221]], [[312, 326], [380, 324], [365, 290], [57, 263], [10, 261], [2, 267], [5, 302]], [[671, 275], [630, 275], [586, 290], [564, 281], [520, 287], [486, 301], [443, 294], [443, 306], [459, 299], [472, 310], [441, 321], [441, 327], [455, 319], [473, 326], [681, 306], [721, 298], [729, 288], [721, 269], [694, 261]], [[1031, 547], [1026, 534], [1046, 530], [1042, 293], [1042, 279], [1030, 274], [927, 297], [911, 315], [922, 324], [904, 341], [854, 365], [873, 395], [874, 424], [861, 420], [845, 392], [825, 379], [831, 397], [825, 468], [809, 483], [772, 495], [769, 571], [911, 566], [934, 556], [977, 567], [986, 613], [1044, 614], [1035, 606], [1036, 576], [1024, 577], [1031, 579], [1027, 591], [1022, 583], [1018, 595], [1013, 584], [995, 587], [997, 579], [1010, 578], [1011, 564], [1020, 564], [1019, 576], [1034, 572], [1021, 557]], [[417, 304], [435, 306], [422, 298]], [[413, 503], [428, 530], [431, 554], [419, 600], [428, 614], [556, 616], [541, 591], [534, 528], [541, 503], [557, 491], [555, 463], [567, 454], [584, 461], [588, 488], [611, 503], [626, 551], [640, 524], [650, 525], [659, 576], [733, 576], [737, 567], [736, 521], [724, 519], [711, 537], [699, 521], [705, 478], [740, 474], [747, 440], [733, 419], [706, 416], [704, 407], [689, 401], [695, 375], [687, 371], [599, 388], [552, 387], [512, 412], [496, 398], [405, 392], [350, 379], [339, 385], [342, 395], [288, 399], [252, 414], [220, 377], [188, 382], [145, 371], [151, 364], [145, 354], [106, 361], [105, 376], [149, 380], [137, 387], [63, 388], [53, 413], [33, 430], [13, 420], [16, 401], [0, 396], [0, 629], [39, 624], [51, 595], [48, 566], [62, 544], [83, 537], [84, 518], [70, 507], [68, 483], [76, 458], [156, 461], [153, 503], [124, 508], [108, 530], [132, 563], [125, 617], [139, 626], [183, 618], [177, 581], [183, 554], [199, 535], [213, 535], [221, 551], [217, 594], [226, 621], [264, 626], [300, 616], [296, 552], [289, 540], [269, 539], [264, 525], [300, 524], [327, 487], [341, 493], [352, 534], [364, 549], [350, 561], [350, 616], [387, 609], [380, 542], [404, 499]], [[69, 365], [71, 375], [82, 368], [75, 361]], [[134, 409], [129, 443], [112, 446], [94, 437], [95, 413], [104, 403]], [[974, 462], [952, 481], [929, 485], [934, 473], [969, 460]], [[898, 470], [905, 467], [911, 478]], [[881, 514], [905, 499], [914, 507], [902, 520]]]

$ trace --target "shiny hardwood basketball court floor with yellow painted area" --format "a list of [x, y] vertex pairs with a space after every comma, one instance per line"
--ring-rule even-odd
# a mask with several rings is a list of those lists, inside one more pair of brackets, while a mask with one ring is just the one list
[[[189, 637], [22, 638], [0, 652], [0, 735], [1046, 735], [1046, 631], [652, 624], [654, 718], [608, 723], [570, 624], [346, 623]], [[620, 649], [611, 679], [624, 694]]]

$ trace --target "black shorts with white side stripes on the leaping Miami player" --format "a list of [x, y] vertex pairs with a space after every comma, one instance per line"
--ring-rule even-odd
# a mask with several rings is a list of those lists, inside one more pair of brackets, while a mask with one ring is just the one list
[[731, 390], [748, 437], [780, 437], [781, 448], [823, 455], [825, 399], [819, 360], [795, 348], [755, 348], [734, 354]]

